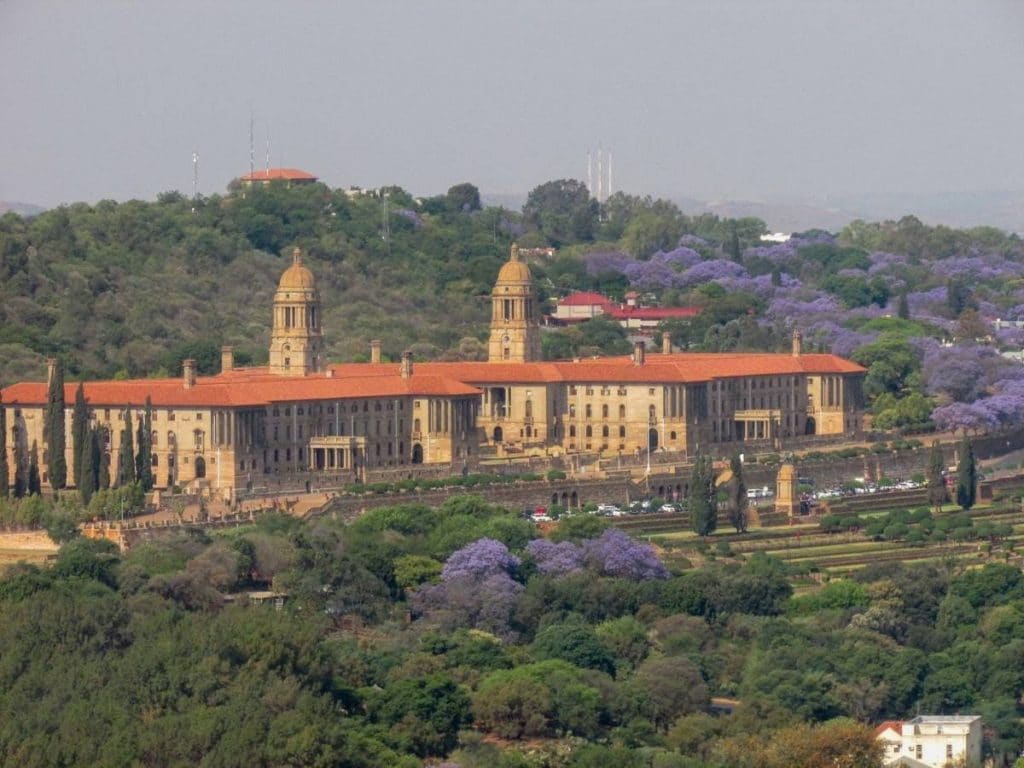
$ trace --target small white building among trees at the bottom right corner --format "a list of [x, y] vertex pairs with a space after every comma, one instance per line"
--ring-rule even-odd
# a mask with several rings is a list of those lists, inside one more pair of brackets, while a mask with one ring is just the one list
[[919, 715], [903, 723], [883, 723], [874, 735], [885, 744], [887, 766], [981, 766], [981, 717], [978, 715]]

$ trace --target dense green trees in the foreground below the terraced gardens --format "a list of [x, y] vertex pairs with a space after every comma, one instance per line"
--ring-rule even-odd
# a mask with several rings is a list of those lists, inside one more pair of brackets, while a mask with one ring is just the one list
[[869, 724], [916, 712], [1024, 746], [1017, 567], [795, 596], [763, 554], [694, 569], [587, 515], [538, 536], [477, 497], [124, 554], [66, 531], [0, 579], [2, 763], [873, 768]]

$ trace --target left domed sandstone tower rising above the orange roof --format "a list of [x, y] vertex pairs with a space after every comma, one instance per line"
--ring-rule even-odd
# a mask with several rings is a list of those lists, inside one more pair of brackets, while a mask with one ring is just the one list
[[281, 275], [273, 295], [270, 373], [305, 376], [319, 371], [323, 364], [319, 294], [313, 273], [302, 264], [302, 253], [296, 248], [292, 265]]

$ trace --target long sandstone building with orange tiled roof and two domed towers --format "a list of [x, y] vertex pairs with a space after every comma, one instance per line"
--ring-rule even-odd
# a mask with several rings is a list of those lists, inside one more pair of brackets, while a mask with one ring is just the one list
[[[296, 250], [273, 298], [269, 362], [179, 379], [85, 382], [93, 424], [105, 427], [117, 466], [123, 429], [152, 407], [158, 487], [232, 497], [356, 479], [460, 472], [481, 457], [631, 456], [646, 451], [724, 453], [768, 447], [776, 438], [860, 430], [860, 367], [806, 354], [799, 334], [790, 353], [648, 353], [543, 361], [540, 307], [515, 247], [492, 294], [485, 362], [329, 365], [321, 297]], [[68, 465], [72, 403], [66, 385]], [[42, 456], [46, 382], [2, 391], [8, 466]], [[18, 445], [18, 449], [15, 449]], [[11, 472], [13, 474], [13, 471]]]

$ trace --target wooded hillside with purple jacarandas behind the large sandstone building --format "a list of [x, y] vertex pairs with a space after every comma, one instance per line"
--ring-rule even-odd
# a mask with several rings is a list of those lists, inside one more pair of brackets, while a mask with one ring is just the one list
[[[881, 428], [984, 429], [1024, 413], [1024, 245], [992, 228], [913, 217], [855, 221], [765, 243], [764, 222], [688, 216], [617, 193], [598, 204], [578, 181], [536, 187], [521, 212], [484, 208], [475, 186], [414, 199], [399, 187], [232, 185], [196, 201], [76, 204], [0, 217], [0, 383], [39, 378], [58, 355], [72, 379], [175, 375], [191, 356], [213, 373], [221, 344], [265, 359], [283, 255], [301, 247], [325, 302], [331, 359], [484, 354], [487, 294], [509, 246], [554, 246], [531, 261], [550, 302], [572, 290], [692, 305], [662, 332], [683, 349], [810, 349], [868, 369]], [[551, 358], [629, 349], [596, 321], [544, 335]]]

